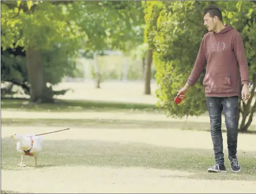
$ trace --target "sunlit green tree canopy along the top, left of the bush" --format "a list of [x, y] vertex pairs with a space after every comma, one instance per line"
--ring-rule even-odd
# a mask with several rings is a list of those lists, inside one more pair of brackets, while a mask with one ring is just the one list
[[140, 1], [6, 1], [1, 12], [1, 43], [4, 49], [17, 43], [25, 50], [28, 46], [48, 50], [60, 43], [72, 51], [79, 47], [127, 51], [127, 41], [143, 43], [143, 15]]

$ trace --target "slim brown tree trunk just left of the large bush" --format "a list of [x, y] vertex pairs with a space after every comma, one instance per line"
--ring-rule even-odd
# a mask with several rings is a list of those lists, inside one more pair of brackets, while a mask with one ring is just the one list
[[151, 81], [151, 64], [153, 60], [153, 51], [149, 49], [147, 51], [147, 64], [146, 64], [146, 73], [145, 73], [145, 82], [144, 82], [144, 94], [151, 95], [150, 81]]

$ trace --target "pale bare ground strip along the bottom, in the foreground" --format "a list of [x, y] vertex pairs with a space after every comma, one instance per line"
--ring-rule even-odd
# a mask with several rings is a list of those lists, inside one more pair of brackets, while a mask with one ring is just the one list
[[[183, 177], [173, 177], [175, 175]], [[34, 193], [255, 193], [253, 181], [186, 179], [186, 172], [110, 167], [2, 170], [2, 189]], [[15, 178], [15, 179], [14, 179]], [[14, 182], [15, 180], [15, 182]], [[48, 183], [47, 183], [48, 182]], [[28, 186], [29, 185], [29, 186]]]

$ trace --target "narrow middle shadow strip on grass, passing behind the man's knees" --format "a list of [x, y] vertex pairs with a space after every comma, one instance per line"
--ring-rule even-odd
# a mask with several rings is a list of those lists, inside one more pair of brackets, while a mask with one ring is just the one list
[[[210, 131], [207, 122], [187, 121], [156, 121], [156, 120], [120, 120], [120, 119], [1, 119], [2, 126], [38, 126], [38, 127], [67, 127], [67, 128], [102, 128], [102, 129], [183, 129]], [[222, 131], [227, 132], [222, 124]], [[256, 134], [256, 125], [250, 125], [248, 134]]]

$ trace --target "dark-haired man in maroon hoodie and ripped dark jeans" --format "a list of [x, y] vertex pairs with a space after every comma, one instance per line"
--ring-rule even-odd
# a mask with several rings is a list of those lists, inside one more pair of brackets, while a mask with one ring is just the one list
[[240, 172], [237, 159], [239, 70], [243, 85], [242, 99], [249, 98], [249, 70], [242, 37], [231, 25], [224, 25], [222, 13], [210, 6], [203, 11], [208, 33], [203, 36], [197, 59], [186, 85], [177, 95], [194, 85], [206, 66], [203, 80], [211, 122], [211, 137], [216, 164], [208, 172], [226, 172], [222, 139], [222, 111], [227, 127], [228, 160], [233, 172]]

